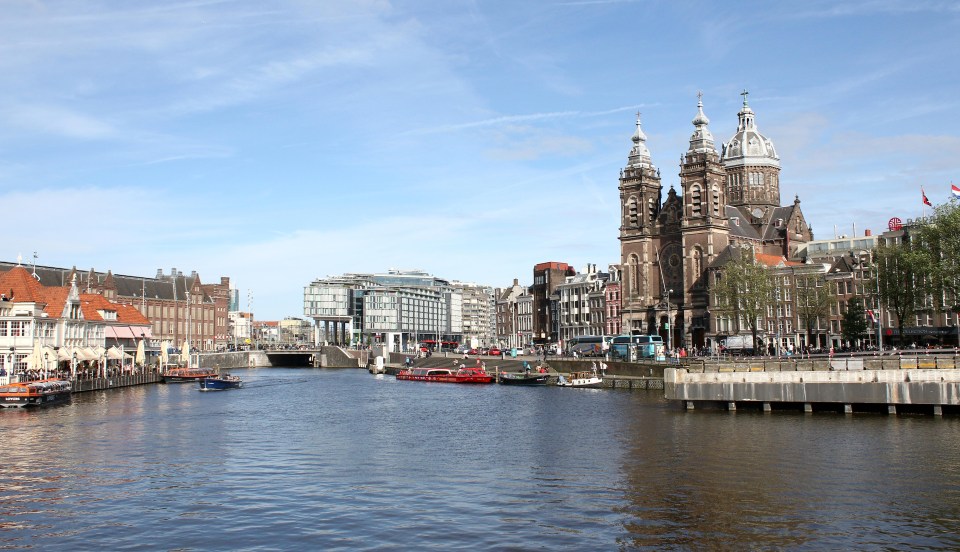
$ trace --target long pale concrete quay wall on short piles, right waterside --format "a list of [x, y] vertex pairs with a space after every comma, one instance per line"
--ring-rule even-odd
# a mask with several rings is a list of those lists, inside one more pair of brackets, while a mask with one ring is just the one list
[[[834, 403], [847, 405], [960, 405], [960, 370], [699, 372], [667, 369], [664, 395], [697, 402]], [[805, 408], [809, 410], [809, 408]], [[939, 413], [936, 411], [935, 413]]]

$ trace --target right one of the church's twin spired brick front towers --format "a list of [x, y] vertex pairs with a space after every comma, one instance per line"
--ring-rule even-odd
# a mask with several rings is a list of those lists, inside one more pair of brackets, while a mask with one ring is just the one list
[[730, 243], [726, 217], [725, 171], [703, 113], [703, 95], [697, 94], [697, 115], [690, 147], [680, 159], [683, 189], [683, 327], [690, 344], [703, 347], [709, 329], [707, 267]]

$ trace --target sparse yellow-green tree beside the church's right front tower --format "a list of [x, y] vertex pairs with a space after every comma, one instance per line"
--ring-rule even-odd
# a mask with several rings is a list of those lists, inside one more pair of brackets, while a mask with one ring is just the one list
[[774, 303], [773, 277], [756, 261], [752, 248], [733, 247], [730, 251], [732, 259], [720, 268], [714, 283], [715, 309], [733, 314], [738, 325], [740, 320], [744, 321], [753, 336], [754, 350], [758, 351], [760, 318]]

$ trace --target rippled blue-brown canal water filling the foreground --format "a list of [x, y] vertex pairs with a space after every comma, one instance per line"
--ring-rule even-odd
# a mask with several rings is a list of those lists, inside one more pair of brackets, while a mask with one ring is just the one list
[[0, 549], [958, 549], [960, 420], [239, 370], [0, 411]]

